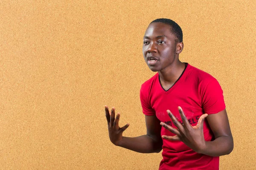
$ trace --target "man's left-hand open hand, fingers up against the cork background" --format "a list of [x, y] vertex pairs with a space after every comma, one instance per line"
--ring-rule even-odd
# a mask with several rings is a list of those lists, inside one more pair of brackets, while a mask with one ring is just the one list
[[122, 133], [123, 131], [125, 131], [125, 129], [127, 129], [129, 124], [126, 124], [123, 127], [119, 127], [120, 113], [116, 114], [116, 119], [115, 119], [115, 108], [111, 109], [111, 114], [110, 114], [108, 110], [108, 106], [105, 106], [105, 113], [108, 121], [109, 139], [113, 144], [115, 144], [116, 146], [119, 146], [120, 142], [122, 142]]

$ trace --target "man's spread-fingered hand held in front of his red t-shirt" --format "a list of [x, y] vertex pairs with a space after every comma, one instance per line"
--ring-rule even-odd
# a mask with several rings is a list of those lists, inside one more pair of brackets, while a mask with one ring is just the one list
[[183, 125], [181, 125], [181, 123], [171, 113], [171, 111], [167, 110], [169, 117], [172, 119], [172, 122], [177, 127], [177, 129], [163, 122], [161, 122], [160, 125], [165, 127], [167, 130], [171, 131], [172, 133], [175, 133], [176, 135], [175, 136], [163, 135], [162, 138], [168, 139], [168, 140], [174, 140], [174, 141], [177, 141], [177, 140], [182, 141], [192, 150], [200, 153], [200, 151], [203, 150], [206, 145], [206, 141], [204, 139], [203, 125], [204, 125], [204, 119], [208, 115], [203, 114], [198, 120], [198, 124], [196, 126], [192, 126], [189, 124], [189, 121], [186, 118], [182, 108], [178, 107], [178, 110], [180, 112]]

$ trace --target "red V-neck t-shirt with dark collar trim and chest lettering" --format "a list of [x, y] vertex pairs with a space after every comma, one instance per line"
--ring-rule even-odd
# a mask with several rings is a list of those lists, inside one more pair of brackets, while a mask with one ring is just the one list
[[[166, 110], [170, 110], [178, 121], [182, 122], [177, 108], [180, 106], [189, 123], [195, 126], [202, 114], [214, 114], [225, 109], [223, 91], [218, 81], [187, 63], [180, 78], [168, 91], [160, 84], [158, 73], [148, 79], [141, 86], [140, 100], [145, 115], [156, 115], [161, 122], [173, 127], [175, 125]], [[162, 135], [175, 136], [164, 127], [161, 129]], [[206, 141], [214, 140], [207, 119], [204, 121], [204, 138]], [[159, 170], [219, 169], [219, 157], [196, 153], [181, 141], [163, 139], [162, 155]]]

